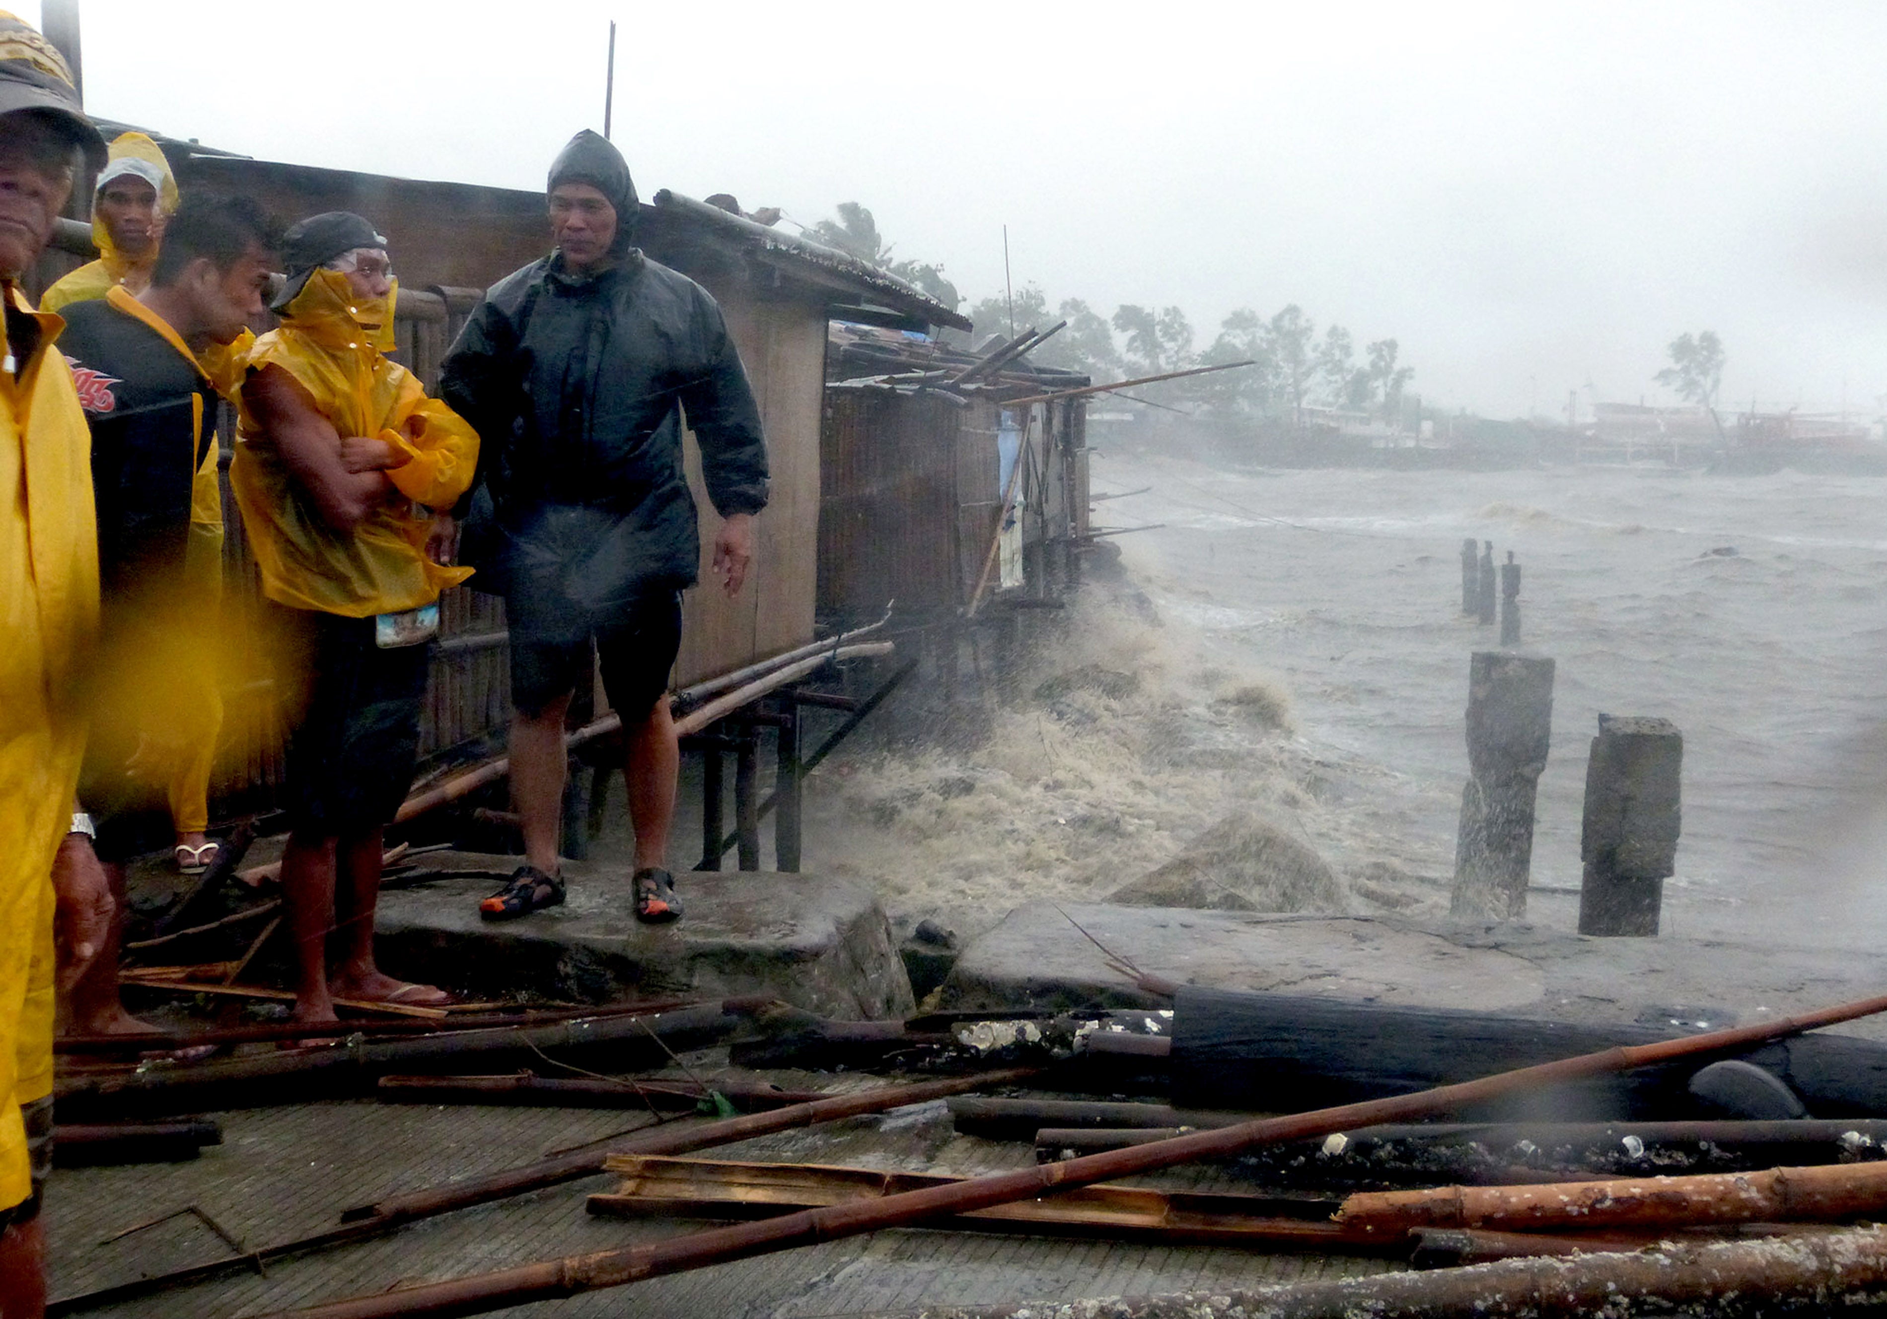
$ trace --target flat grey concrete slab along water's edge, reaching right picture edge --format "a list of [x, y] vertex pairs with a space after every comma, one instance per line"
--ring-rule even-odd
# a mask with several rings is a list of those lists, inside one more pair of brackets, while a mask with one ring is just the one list
[[[1066, 915], [1064, 915], [1066, 911]], [[1562, 1021], [1753, 1023], [1878, 994], [1887, 955], [1689, 938], [1585, 938], [1525, 923], [1419, 927], [1372, 917], [1266, 915], [1108, 904], [1028, 904], [970, 940], [945, 1008], [1151, 1004], [1108, 968], [1113, 953], [1213, 989], [1415, 1008], [1515, 1010]], [[1887, 1038], [1887, 1023], [1844, 1034]]]

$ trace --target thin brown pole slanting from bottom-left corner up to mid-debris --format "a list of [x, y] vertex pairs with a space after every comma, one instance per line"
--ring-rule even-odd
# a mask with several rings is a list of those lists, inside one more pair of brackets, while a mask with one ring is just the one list
[[662, 1123], [628, 1138], [611, 1136], [608, 1140], [594, 1142], [589, 1149], [540, 1159], [536, 1162], [528, 1162], [519, 1168], [506, 1168], [504, 1172], [485, 1177], [449, 1181], [425, 1191], [355, 1206], [353, 1210], [342, 1213], [340, 1227], [328, 1228], [326, 1232], [315, 1232], [313, 1236], [264, 1245], [249, 1255], [221, 1259], [209, 1264], [192, 1264], [187, 1268], [175, 1268], [168, 1274], [155, 1274], [151, 1277], [119, 1283], [115, 1287], [102, 1287], [79, 1296], [62, 1296], [51, 1302], [45, 1308], [45, 1313], [49, 1319], [57, 1319], [58, 1315], [81, 1313], [85, 1310], [117, 1304], [121, 1300], [134, 1300], [138, 1296], [149, 1296], [174, 1287], [209, 1281], [226, 1274], [249, 1272], [259, 1262], [272, 1264], [277, 1259], [292, 1259], [296, 1255], [311, 1255], [336, 1245], [366, 1242], [376, 1236], [385, 1236], [387, 1232], [406, 1227], [408, 1223], [417, 1223], [419, 1219], [430, 1219], [453, 1210], [468, 1210], [476, 1204], [489, 1204], [493, 1200], [506, 1200], [528, 1191], [542, 1191], [543, 1187], [557, 1187], [566, 1181], [600, 1174], [604, 1170], [604, 1160], [610, 1155], [685, 1155], [694, 1149], [730, 1145], [740, 1140], [770, 1136], [796, 1127], [817, 1127], [819, 1123], [836, 1123], [843, 1117], [883, 1113], [910, 1104], [930, 1104], [934, 1100], [947, 1098], [951, 1094], [964, 1094], [974, 1089], [1021, 1085], [1023, 1081], [1030, 1081], [1040, 1076], [1042, 1072], [1038, 1068], [1004, 1068], [998, 1072], [983, 1072], [981, 1076], [949, 1077], [942, 1081], [879, 1085], [870, 1091], [832, 1094], [811, 1104], [794, 1104], [793, 1108], [779, 1108], [772, 1113], [747, 1113], [743, 1117], [728, 1117], [717, 1123]]

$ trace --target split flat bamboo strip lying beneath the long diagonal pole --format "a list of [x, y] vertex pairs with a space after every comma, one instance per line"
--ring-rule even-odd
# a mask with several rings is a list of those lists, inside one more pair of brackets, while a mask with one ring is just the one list
[[[606, 1217], [759, 1219], [787, 1210], [851, 1204], [900, 1191], [964, 1181], [928, 1172], [881, 1172], [823, 1164], [723, 1162], [611, 1155], [623, 1174], [613, 1193], [589, 1196]], [[1296, 1210], [1281, 1217], [1279, 1210]], [[1400, 1242], [1351, 1232], [1325, 1215], [1328, 1202], [1279, 1202], [1257, 1194], [1164, 1193], [1144, 1187], [1081, 1187], [1047, 1200], [1021, 1200], [919, 1227], [972, 1232], [1028, 1232], [1168, 1245], [1244, 1245], [1255, 1249], [1364, 1251], [1400, 1255]]]

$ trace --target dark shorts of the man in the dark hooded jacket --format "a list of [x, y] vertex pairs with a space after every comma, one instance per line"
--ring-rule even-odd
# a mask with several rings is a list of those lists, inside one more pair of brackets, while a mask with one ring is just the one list
[[611, 710], [628, 715], [651, 710], [668, 691], [668, 674], [681, 651], [681, 593], [643, 596], [574, 638], [532, 634], [513, 623], [511, 704], [536, 715], [589, 683], [593, 642]]

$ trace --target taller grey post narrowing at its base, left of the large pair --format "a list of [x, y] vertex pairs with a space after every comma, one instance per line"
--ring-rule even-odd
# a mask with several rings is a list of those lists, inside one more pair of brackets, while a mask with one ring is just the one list
[[1449, 910], [1506, 921], [1527, 913], [1534, 796], [1553, 732], [1553, 660], [1476, 651], [1468, 664], [1468, 772]]

